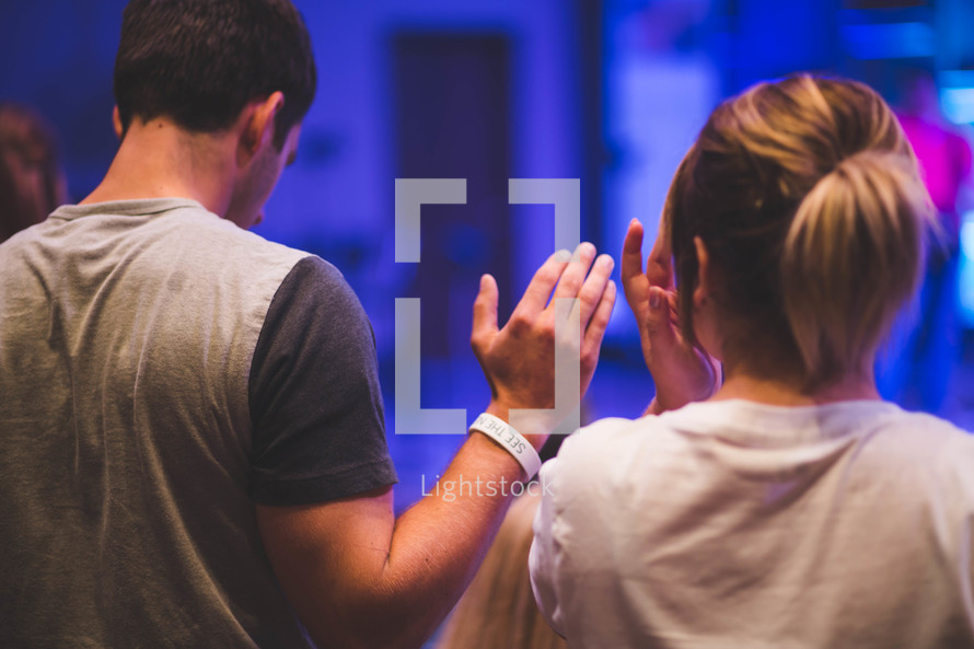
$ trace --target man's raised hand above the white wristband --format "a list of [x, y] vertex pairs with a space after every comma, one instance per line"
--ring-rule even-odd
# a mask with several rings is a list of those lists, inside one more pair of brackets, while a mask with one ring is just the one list
[[[497, 282], [490, 275], [480, 278], [480, 292], [474, 302], [471, 345], [487, 382], [491, 405], [488, 412], [505, 419], [511, 408], [552, 408], [555, 405], [555, 347], [571, 347], [579, 355], [579, 398], [588, 390], [599, 362], [602, 337], [615, 304], [615, 282], [608, 279], [612, 257], [595, 258], [595, 246], [582, 243], [571, 257], [555, 253], [537, 269], [510, 320], [498, 329]], [[590, 270], [591, 269], [591, 270]], [[554, 293], [553, 293], [554, 291]], [[577, 298], [570, 314], [556, 312], [557, 298]], [[556, 317], [565, 317], [556, 339]], [[573, 323], [580, 329], [572, 335]], [[577, 405], [577, 404], [576, 404]], [[567, 413], [558, 413], [564, 417]], [[547, 430], [521, 431], [536, 448], [544, 443], [557, 421]]]

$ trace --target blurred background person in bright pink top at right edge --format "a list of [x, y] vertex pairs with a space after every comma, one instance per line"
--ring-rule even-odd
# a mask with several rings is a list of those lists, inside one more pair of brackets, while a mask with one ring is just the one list
[[897, 117], [937, 208], [939, 235], [930, 242], [916, 310], [880, 355], [879, 385], [884, 397], [904, 407], [940, 414], [949, 406], [944, 398], [960, 346], [961, 200], [971, 188], [971, 144], [944, 118], [929, 71], [903, 70], [900, 86]]

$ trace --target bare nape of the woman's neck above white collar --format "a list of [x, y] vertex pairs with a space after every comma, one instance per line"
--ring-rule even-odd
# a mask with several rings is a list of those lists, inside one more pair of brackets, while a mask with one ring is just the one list
[[728, 371], [712, 401], [741, 398], [776, 406], [811, 406], [843, 401], [880, 399], [872, 371], [850, 373], [821, 387], [804, 390], [799, 381]]

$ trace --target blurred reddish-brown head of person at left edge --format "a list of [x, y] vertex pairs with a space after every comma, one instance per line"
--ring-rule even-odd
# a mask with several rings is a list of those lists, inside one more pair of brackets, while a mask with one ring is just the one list
[[54, 130], [26, 106], [0, 102], [0, 242], [67, 201]]

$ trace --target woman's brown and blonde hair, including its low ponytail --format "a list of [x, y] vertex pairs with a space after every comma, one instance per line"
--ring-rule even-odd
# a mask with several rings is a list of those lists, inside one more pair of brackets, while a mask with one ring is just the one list
[[916, 289], [934, 224], [916, 159], [869, 86], [808, 74], [723, 102], [687, 152], [663, 220], [684, 336], [715, 266], [724, 360], [807, 389], [861, 372]]

